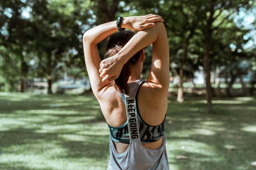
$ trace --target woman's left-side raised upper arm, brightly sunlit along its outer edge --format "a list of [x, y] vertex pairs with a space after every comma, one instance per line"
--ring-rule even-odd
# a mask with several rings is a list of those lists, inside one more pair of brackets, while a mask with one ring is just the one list
[[89, 75], [92, 92], [96, 98], [100, 97], [100, 93], [111, 86], [109, 81], [102, 82], [100, 77], [101, 58], [98, 53], [97, 44], [87, 41], [87, 37], [83, 36], [83, 49], [86, 69]]

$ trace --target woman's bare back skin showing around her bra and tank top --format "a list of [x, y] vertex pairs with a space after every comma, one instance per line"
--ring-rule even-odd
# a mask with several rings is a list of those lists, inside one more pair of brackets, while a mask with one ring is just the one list
[[[160, 125], [167, 111], [167, 93], [161, 92], [160, 88], [152, 88], [151, 82], [145, 82], [139, 88], [138, 107], [141, 118], [150, 126]], [[114, 87], [109, 87], [104, 92], [104, 101], [99, 101], [102, 113], [110, 126], [119, 127], [127, 121], [126, 107]], [[114, 142], [118, 153], [123, 153], [129, 144]], [[149, 149], [159, 149], [162, 144], [160, 140], [143, 144]]]

